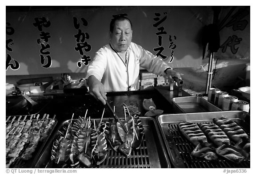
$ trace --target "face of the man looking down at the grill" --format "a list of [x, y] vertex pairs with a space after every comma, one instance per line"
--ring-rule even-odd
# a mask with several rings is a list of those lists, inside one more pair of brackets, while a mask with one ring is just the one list
[[126, 51], [132, 41], [132, 27], [129, 21], [117, 20], [110, 38], [110, 43], [118, 52]]

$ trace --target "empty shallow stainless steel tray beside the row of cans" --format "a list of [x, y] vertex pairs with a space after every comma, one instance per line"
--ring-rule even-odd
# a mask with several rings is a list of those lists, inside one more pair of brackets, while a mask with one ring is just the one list
[[222, 111], [220, 108], [198, 96], [172, 98], [172, 103], [174, 110], [180, 110], [183, 113]]

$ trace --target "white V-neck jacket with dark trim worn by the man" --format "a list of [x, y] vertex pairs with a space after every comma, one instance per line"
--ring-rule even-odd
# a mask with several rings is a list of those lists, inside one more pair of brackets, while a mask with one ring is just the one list
[[138, 90], [140, 66], [156, 75], [164, 75], [164, 70], [170, 68], [160, 57], [132, 42], [125, 63], [107, 44], [96, 52], [89, 63], [85, 79], [94, 75], [102, 82], [106, 92]]

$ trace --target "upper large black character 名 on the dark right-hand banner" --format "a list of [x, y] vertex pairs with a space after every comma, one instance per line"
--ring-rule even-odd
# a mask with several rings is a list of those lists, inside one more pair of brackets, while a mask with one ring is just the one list
[[241, 30], [243, 31], [244, 28], [247, 26], [248, 21], [247, 20], [241, 20], [245, 16], [249, 15], [250, 12], [245, 9], [239, 9], [234, 15], [232, 15], [232, 20], [229, 21], [225, 26], [230, 27], [233, 26], [233, 31]]

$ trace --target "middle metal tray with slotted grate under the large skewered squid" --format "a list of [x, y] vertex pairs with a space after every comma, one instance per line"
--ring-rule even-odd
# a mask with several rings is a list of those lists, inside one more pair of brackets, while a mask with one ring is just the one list
[[[144, 128], [144, 139], [141, 147], [137, 150], [132, 149], [131, 155], [126, 158], [119, 151], [112, 150], [108, 145], [108, 156], [105, 161], [99, 166], [92, 162], [91, 168], [170, 168], [171, 165], [164, 149], [164, 143], [160, 138], [156, 120], [151, 117], [140, 117], [140, 119]], [[108, 120], [109, 118], [103, 118], [103, 121]], [[68, 121], [70, 120], [64, 121], [58, 130]], [[99, 123], [100, 119], [95, 119], [95, 122]], [[56, 131], [36, 162], [36, 168], [53, 168], [51, 151], [57, 135], [58, 132]], [[78, 167], [84, 168], [82, 164]]]

